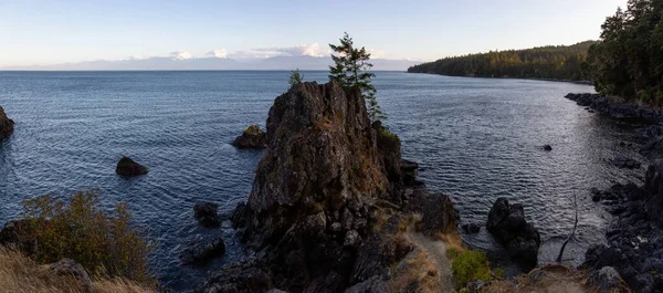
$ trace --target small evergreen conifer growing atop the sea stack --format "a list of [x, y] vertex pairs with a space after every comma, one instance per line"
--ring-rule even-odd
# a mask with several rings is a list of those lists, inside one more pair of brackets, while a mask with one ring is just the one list
[[329, 66], [329, 80], [337, 81], [344, 87], [359, 88], [361, 97], [366, 101], [368, 116], [371, 122], [386, 119], [387, 115], [381, 111], [376, 98], [376, 87], [371, 84], [370, 79], [376, 75], [370, 72], [365, 72], [372, 67], [370, 53], [366, 52], [366, 48], [356, 49], [352, 45], [352, 38], [346, 32], [340, 44], [329, 44], [329, 48], [337, 55], [332, 54], [334, 66]]

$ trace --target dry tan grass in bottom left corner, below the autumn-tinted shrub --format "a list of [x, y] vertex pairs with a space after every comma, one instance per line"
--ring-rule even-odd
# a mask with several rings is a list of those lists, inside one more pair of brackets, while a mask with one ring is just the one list
[[[85, 287], [73, 276], [54, 275], [48, 265], [39, 265], [18, 252], [0, 248], [0, 292], [82, 293]], [[95, 280], [93, 293], [156, 293], [123, 280]]]

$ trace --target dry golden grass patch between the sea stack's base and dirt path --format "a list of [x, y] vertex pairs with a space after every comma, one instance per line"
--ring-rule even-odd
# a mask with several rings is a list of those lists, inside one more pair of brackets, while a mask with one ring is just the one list
[[389, 292], [440, 292], [438, 268], [421, 249], [393, 268]]

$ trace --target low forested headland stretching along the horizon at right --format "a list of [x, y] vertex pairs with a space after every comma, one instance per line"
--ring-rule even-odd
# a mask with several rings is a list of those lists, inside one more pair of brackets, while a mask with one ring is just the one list
[[594, 41], [440, 59], [408, 69], [452, 76], [586, 80], [581, 64]]

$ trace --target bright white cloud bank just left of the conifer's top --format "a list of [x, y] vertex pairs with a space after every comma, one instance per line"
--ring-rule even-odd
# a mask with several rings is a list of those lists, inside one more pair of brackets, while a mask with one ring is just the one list
[[234, 59], [266, 59], [275, 56], [314, 56], [322, 57], [329, 54], [328, 49], [323, 49], [318, 43], [302, 44], [285, 48], [259, 48], [246, 51], [236, 51], [228, 54]]

